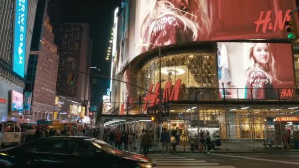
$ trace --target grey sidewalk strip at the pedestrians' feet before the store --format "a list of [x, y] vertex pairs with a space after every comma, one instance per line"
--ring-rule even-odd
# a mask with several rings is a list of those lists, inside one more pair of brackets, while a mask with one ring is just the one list
[[[226, 150], [226, 141], [221, 141], [221, 146], [216, 146], [215, 150], [212, 150], [213, 153], [256, 153], [256, 152], [299, 152], [299, 149], [281, 149], [281, 146], [276, 148], [276, 146], [272, 146], [271, 148], [263, 145], [264, 141], [257, 140], [256, 141], [256, 149], [254, 148], [253, 140], [245, 140], [245, 141], [228, 141]], [[140, 142], [136, 142], [136, 151], [139, 152]], [[193, 150], [191, 151], [190, 144], [185, 144], [185, 149], [183, 143], [180, 143], [179, 146], [176, 146], [176, 150], [173, 150], [173, 146], [171, 145], [169, 148], [169, 152], [193, 152], [193, 153], [206, 153], [206, 150]], [[150, 152], [162, 152], [161, 148], [158, 144], [152, 145]]]

